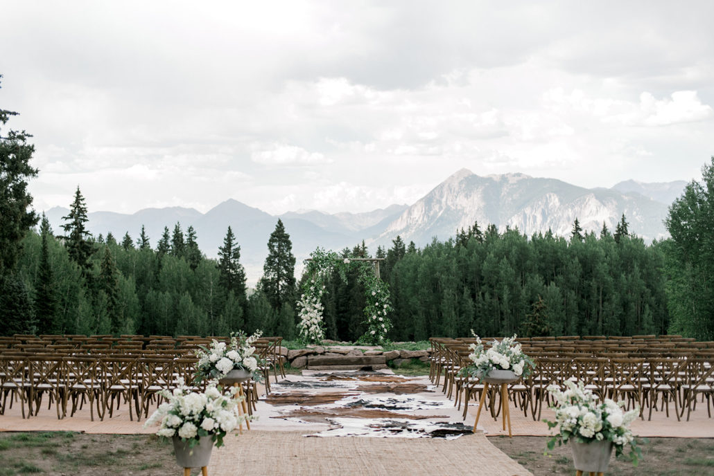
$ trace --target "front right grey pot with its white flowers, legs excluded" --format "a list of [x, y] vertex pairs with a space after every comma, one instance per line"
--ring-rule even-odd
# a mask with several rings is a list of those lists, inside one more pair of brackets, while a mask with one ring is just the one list
[[615, 457], [629, 449], [628, 456], [636, 466], [642, 452], [630, 431], [629, 425], [640, 413], [639, 408], [623, 412], [620, 404], [609, 398], [600, 401], [583, 383], [565, 381], [565, 391], [559, 386], [548, 386], [548, 393], [555, 400], [555, 421], [544, 420], [548, 428], [558, 427], [558, 433], [548, 441], [548, 449], [555, 443], [570, 442], [575, 469], [587, 472], [605, 472], [610, 454], [615, 448]]

